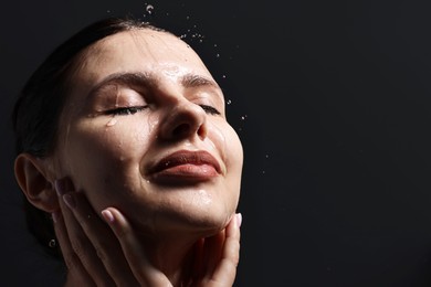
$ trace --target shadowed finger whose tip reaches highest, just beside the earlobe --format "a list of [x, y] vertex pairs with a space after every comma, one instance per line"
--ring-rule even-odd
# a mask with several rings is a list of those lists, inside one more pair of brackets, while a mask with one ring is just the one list
[[[67, 179], [59, 180], [55, 182], [55, 188], [60, 195], [59, 202], [64, 219], [64, 226], [72, 246], [67, 255], [71, 259], [70, 264], [74, 265], [77, 264], [76, 261], [80, 261], [87, 275], [97, 286], [114, 285], [101, 259], [97, 257], [95, 248], [73, 214], [76, 202], [73, 196], [75, 192], [73, 192], [72, 182]], [[81, 276], [81, 274], [78, 275]]]

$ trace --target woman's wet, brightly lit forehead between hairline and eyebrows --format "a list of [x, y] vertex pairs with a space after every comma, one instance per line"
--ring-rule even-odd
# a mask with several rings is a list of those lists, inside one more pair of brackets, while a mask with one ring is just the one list
[[211, 77], [187, 43], [149, 29], [120, 32], [93, 44], [80, 56], [73, 77], [91, 85], [112, 74], [136, 72], [172, 78], [187, 73]]

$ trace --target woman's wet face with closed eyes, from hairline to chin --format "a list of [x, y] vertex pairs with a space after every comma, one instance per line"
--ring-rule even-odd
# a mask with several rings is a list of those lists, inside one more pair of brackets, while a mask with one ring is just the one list
[[223, 94], [199, 56], [153, 30], [111, 35], [71, 78], [54, 153], [97, 212], [144, 232], [218, 231], [234, 213], [243, 152]]

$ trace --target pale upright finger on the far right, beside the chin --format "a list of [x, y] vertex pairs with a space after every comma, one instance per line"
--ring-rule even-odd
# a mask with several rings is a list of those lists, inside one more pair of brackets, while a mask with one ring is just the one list
[[210, 286], [232, 286], [240, 259], [241, 213], [235, 214], [225, 228], [221, 259], [211, 277]]

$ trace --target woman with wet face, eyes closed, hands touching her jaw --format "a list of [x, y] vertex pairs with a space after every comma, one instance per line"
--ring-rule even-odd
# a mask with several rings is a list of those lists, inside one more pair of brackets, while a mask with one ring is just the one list
[[65, 286], [232, 286], [242, 146], [179, 38], [94, 23], [36, 70], [13, 119], [30, 228], [53, 247], [54, 226]]

